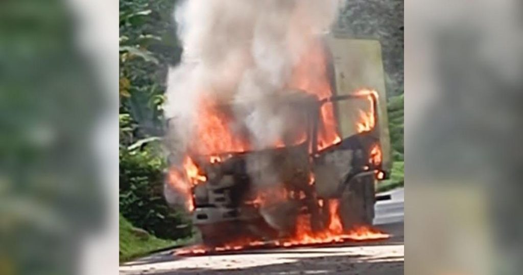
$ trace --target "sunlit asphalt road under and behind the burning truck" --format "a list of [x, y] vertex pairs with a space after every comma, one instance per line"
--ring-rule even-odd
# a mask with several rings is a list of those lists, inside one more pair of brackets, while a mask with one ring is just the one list
[[365, 243], [278, 248], [177, 257], [165, 251], [120, 267], [120, 274], [403, 274], [403, 189], [376, 203], [376, 227], [390, 239]]

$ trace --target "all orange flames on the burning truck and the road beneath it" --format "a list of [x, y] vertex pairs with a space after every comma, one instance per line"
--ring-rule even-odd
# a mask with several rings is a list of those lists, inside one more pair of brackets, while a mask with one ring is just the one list
[[[316, 95], [319, 100], [324, 100], [333, 96], [331, 83], [327, 73], [327, 58], [321, 42], [314, 43], [308, 54], [305, 54], [295, 67], [290, 82], [289, 90], [302, 90], [305, 93]], [[366, 98], [369, 102], [369, 109], [360, 110], [360, 118], [356, 128], [358, 133], [371, 131], [376, 126], [376, 110], [374, 103], [378, 98], [376, 91], [363, 89], [355, 93], [357, 96]], [[230, 110], [229, 110], [230, 111]], [[208, 162], [215, 163], [224, 160], [224, 153], [244, 152], [251, 150], [248, 138], [242, 137], [240, 133], [233, 133], [231, 130], [232, 114], [228, 110], [219, 107], [218, 102], [210, 97], [201, 98], [198, 117], [195, 126], [195, 136], [190, 144], [191, 151], [199, 155], [199, 159], [206, 156]], [[322, 150], [341, 141], [337, 131], [337, 121], [334, 115], [332, 103], [325, 103], [320, 109], [320, 127], [317, 140], [317, 149]], [[240, 135], [238, 135], [240, 134]], [[297, 142], [302, 142], [300, 138]], [[285, 146], [284, 142], [278, 140], [274, 147]], [[371, 148], [369, 162], [374, 165], [381, 163], [381, 149], [379, 145]], [[192, 200], [192, 189], [199, 183], [206, 181], [204, 173], [200, 170], [197, 163], [188, 155], [185, 157], [182, 169], [172, 169], [169, 172], [169, 183], [181, 195], [185, 196], [186, 206], [189, 211], [194, 210]], [[309, 184], [314, 184], [314, 174], [310, 174]], [[288, 191], [285, 188], [271, 189], [259, 192], [257, 196], [247, 201], [261, 207], [288, 199], [304, 199], [303, 192]], [[240, 250], [248, 247], [266, 246], [297, 246], [307, 244], [323, 244], [343, 242], [346, 240], [367, 240], [383, 239], [389, 235], [372, 229], [368, 226], [355, 227], [344, 232], [343, 223], [339, 216], [338, 200], [318, 200], [320, 207], [328, 203], [329, 223], [322, 232], [313, 232], [310, 224], [310, 216], [300, 214], [297, 218], [296, 230], [291, 238], [275, 240], [267, 243], [266, 241], [253, 239], [238, 239], [220, 247], [198, 246], [178, 250], [178, 254], [204, 254], [211, 251]]]

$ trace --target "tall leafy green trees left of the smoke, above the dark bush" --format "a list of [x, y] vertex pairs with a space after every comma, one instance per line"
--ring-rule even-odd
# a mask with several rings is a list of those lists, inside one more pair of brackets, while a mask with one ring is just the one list
[[174, 0], [120, 0], [120, 114], [132, 135], [120, 142], [162, 136], [165, 75], [181, 48], [172, 19]]

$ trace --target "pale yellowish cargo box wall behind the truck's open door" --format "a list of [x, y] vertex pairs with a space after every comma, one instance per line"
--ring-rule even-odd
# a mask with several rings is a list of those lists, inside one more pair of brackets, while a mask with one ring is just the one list
[[[373, 135], [380, 139], [383, 153], [383, 168], [389, 170], [390, 137], [386, 110], [386, 91], [381, 45], [377, 40], [347, 39], [336, 36], [328, 37], [336, 95], [355, 94], [361, 89], [374, 90], [378, 93], [376, 131]], [[342, 138], [357, 134], [355, 122], [360, 111], [369, 108], [365, 97], [355, 100], [344, 100], [335, 103], [338, 117], [338, 129]]]

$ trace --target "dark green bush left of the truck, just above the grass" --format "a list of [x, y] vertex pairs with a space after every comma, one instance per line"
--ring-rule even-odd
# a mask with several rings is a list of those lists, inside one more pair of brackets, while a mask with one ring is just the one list
[[164, 199], [166, 163], [154, 145], [120, 149], [120, 213], [134, 226], [160, 238], [190, 236], [184, 212], [174, 211]]

